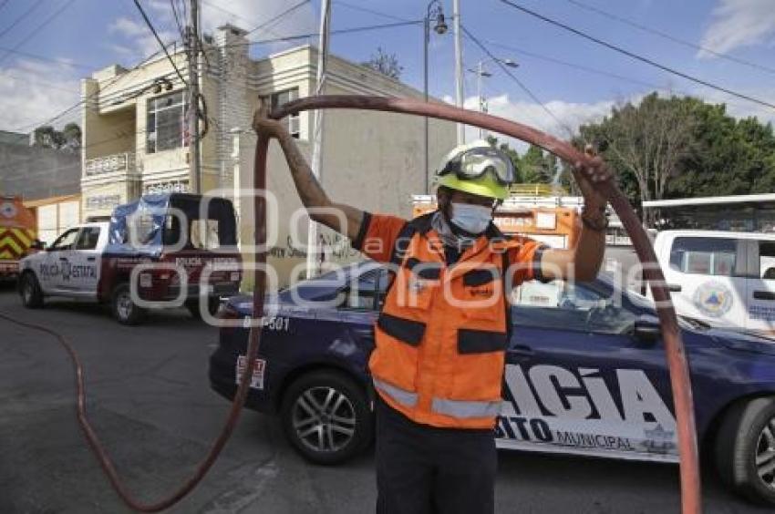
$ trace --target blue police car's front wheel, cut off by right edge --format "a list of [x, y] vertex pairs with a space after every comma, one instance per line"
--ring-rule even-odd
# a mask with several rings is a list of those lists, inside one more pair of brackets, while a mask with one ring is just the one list
[[716, 461], [730, 488], [754, 502], [775, 505], [775, 397], [729, 409], [718, 429]]

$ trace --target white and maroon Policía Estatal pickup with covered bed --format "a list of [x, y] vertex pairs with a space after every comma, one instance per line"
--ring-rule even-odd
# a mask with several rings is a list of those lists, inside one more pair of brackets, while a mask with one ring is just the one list
[[28, 308], [49, 296], [108, 303], [121, 324], [147, 309], [185, 305], [217, 311], [239, 291], [241, 257], [230, 200], [192, 194], [147, 195], [120, 205], [110, 221], [82, 223], [44, 252], [20, 262]]

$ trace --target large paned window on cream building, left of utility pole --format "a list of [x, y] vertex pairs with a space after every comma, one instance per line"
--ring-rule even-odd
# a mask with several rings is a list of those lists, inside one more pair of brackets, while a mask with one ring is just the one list
[[188, 145], [186, 107], [182, 91], [148, 101], [146, 153]]

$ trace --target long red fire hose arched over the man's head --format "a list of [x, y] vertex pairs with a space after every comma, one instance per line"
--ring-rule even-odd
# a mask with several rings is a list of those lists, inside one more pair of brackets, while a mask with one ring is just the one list
[[[279, 119], [284, 118], [289, 114], [318, 108], [380, 110], [459, 121], [461, 123], [486, 128], [494, 132], [500, 132], [501, 134], [533, 143], [569, 162], [587, 161], [589, 159], [582, 152], [574, 149], [568, 143], [507, 119], [496, 118], [494, 116], [465, 109], [428, 104], [408, 99], [362, 96], [303, 98], [285, 104], [283, 108], [275, 110], [271, 116], [272, 118]], [[254, 161], [255, 190], [265, 190], [266, 188], [266, 155], [268, 145], [269, 140], [259, 135], [256, 143]], [[665, 287], [664, 276], [662, 275], [659, 266], [656, 264], [656, 256], [651, 247], [651, 242], [649, 242], [646, 232], [641, 227], [640, 221], [638, 221], [635, 216], [632, 207], [629, 205], [621, 191], [616, 188], [615, 184], [602, 183], [598, 184], [597, 187], [604, 191], [609, 201], [614, 206], [616, 213], [619, 215], [619, 219], [624, 223], [625, 229], [635, 245], [635, 251], [637, 252], [638, 257], [641, 262], [645, 264], [644, 277], [650, 284], [654, 298], [657, 301], [657, 312], [662, 324], [662, 336], [665, 342], [667, 364], [670, 369], [670, 381], [673, 387], [673, 398], [676, 406], [678, 450], [681, 462], [682, 512], [684, 514], [698, 514], [701, 506], [699, 474], [697, 470], [697, 433], [695, 431], [694, 409], [692, 406], [687, 359], [684, 352], [684, 345], [681, 342], [680, 333], [678, 332], [676, 313], [672, 307], [672, 303], [670, 303], [670, 295]], [[260, 195], [256, 195], [253, 202], [255, 209], [256, 244], [256, 252], [254, 254], [256, 273], [255, 287], [253, 290], [253, 320], [258, 320], [263, 316], [263, 289], [266, 283], [266, 274], [263, 271], [263, 266], [265, 266], [266, 263], [266, 203], [263, 196]], [[253, 323], [246, 352], [247, 365], [245, 366], [243, 375], [240, 377], [240, 384], [237, 387], [232, 408], [229, 411], [229, 415], [226, 417], [221, 433], [216, 437], [210, 451], [202, 460], [202, 463], [196, 468], [194, 474], [167, 498], [152, 503], [141, 503], [131, 496], [129, 490], [121, 482], [110, 457], [102, 447], [97, 434], [88, 422], [84, 373], [73, 346], [67, 342], [67, 339], [62, 334], [58, 334], [57, 331], [44, 325], [21, 322], [12, 316], [5, 314], [0, 314], [0, 318], [14, 324], [51, 334], [65, 347], [75, 368], [78, 396], [76, 404], [78, 423], [82, 427], [84, 434], [88, 439], [89, 446], [94, 451], [100, 466], [105, 471], [111, 485], [119, 494], [119, 497], [130, 509], [135, 509], [140, 512], [159, 512], [160, 510], [170, 508], [190, 493], [212, 467], [215, 459], [221, 453], [221, 450], [226, 445], [229, 437], [231, 437], [234, 427], [236, 427], [237, 420], [248, 393], [248, 387], [255, 365], [255, 357], [258, 355], [258, 348], [261, 341], [261, 330], [255, 326], [256, 323]]]

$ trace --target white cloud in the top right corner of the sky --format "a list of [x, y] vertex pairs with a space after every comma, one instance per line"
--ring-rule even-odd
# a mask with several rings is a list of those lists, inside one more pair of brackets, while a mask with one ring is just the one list
[[[729, 52], [775, 40], [775, 5], [772, 0], [719, 0], [700, 46], [714, 52]], [[713, 54], [700, 50], [697, 57]]]

